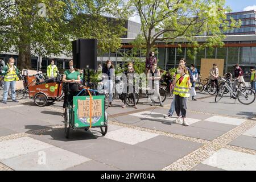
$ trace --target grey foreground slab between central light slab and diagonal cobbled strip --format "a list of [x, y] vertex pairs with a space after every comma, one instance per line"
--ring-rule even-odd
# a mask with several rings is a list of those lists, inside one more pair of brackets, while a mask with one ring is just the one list
[[166, 136], [158, 136], [138, 143], [136, 146], [181, 158], [203, 146], [203, 144]]

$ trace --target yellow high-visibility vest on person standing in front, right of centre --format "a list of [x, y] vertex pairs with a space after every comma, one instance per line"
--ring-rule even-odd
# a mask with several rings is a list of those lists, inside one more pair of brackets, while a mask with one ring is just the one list
[[180, 97], [189, 97], [189, 88], [188, 88], [188, 80], [189, 80], [189, 76], [188, 75], [184, 75], [183, 80], [180, 83], [179, 78], [181, 77], [180, 74], [176, 75], [176, 85], [174, 88], [174, 94], [175, 95], [179, 95]]

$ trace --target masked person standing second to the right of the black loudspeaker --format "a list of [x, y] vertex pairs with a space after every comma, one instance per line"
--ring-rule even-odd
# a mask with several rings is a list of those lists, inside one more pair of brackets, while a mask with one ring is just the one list
[[[126, 92], [123, 93], [123, 102], [124, 105], [122, 106], [122, 108], [125, 108], [127, 105], [127, 96], [128, 94], [131, 94], [131, 97], [133, 98], [133, 103], [134, 103], [134, 108], [138, 109], [137, 105], [136, 105], [136, 98], [135, 98], [135, 88], [134, 88], [134, 68], [133, 68], [133, 63], [128, 63], [128, 69], [127, 71], [123, 72], [123, 74], [126, 75], [127, 78], [127, 82], [125, 83], [125, 86], [127, 88]], [[132, 88], [133, 91], [131, 92], [129, 90], [129, 88]], [[130, 91], [130, 92], [129, 92]]]

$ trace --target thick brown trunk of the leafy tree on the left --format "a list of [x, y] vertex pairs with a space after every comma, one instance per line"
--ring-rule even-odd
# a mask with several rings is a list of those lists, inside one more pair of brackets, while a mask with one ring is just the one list
[[19, 42], [19, 57], [18, 68], [19, 69], [31, 69], [31, 51], [30, 44], [24, 43], [23, 38], [20, 38]]

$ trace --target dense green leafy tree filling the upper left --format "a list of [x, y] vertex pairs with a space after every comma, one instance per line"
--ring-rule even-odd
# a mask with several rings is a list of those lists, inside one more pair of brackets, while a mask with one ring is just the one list
[[31, 55], [71, 55], [77, 38], [96, 38], [103, 51], [117, 48], [125, 31], [122, 23], [109, 28], [104, 17], [127, 17], [120, 0], [2, 0], [0, 5], [0, 51], [18, 51], [19, 68], [31, 67]]

